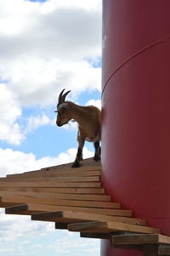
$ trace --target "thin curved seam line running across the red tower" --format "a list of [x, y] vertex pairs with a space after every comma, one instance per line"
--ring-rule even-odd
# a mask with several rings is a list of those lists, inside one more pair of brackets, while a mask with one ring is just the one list
[[119, 66], [116, 68], [115, 71], [113, 71], [113, 73], [111, 74], [111, 76], [110, 76], [110, 77], [108, 78], [108, 80], [105, 82], [105, 86], [104, 86], [104, 88], [103, 88], [103, 90], [102, 90], [101, 96], [103, 96], [104, 91], [105, 91], [105, 88], [106, 88], [108, 82], [110, 82], [111, 77], [113, 77], [113, 76], [116, 74], [116, 72], [119, 71], [119, 70], [122, 68], [123, 65], [126, 65], [127, 62], [129, 62], [130, 60], [133, 60], [136, 56], [138, 56], [139, 54], [142, 54], [144, 51], [148, 50], [149, 48], [153, 48], [153, 47], [155, 47], [157, 44], [164, 43], [165, 41], [167, 41], [167, 40], [169, 40], [169, 39], [170, 39], [170, 36], [168, 36], [168, 37], [163, 37], [163, 38], [161, 38], [161, 40], [156, 41], [155, 43], [150, 43], [148, 46], [146, 46], [146, 47], [140, 49], [137, 53], [131, 55], [129, 58], [127, 58], [127, 60], [123, 61], [122, 64], [119, 65]]

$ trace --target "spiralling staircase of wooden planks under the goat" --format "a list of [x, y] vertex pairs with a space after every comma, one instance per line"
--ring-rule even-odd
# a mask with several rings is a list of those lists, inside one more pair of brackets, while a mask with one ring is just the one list
[[[81, 237], [110, 239], [111, 247], [170, 255], [170, 237], [160, 235], [144, 219], [133, 218], [132, 211], [106, 195], [101, 166], [91, 158], [83, 161], [82, 168], [64, 164], [0, 178], [0, 208], [7, 214], [55, 222], [56, 229], [80, 232]], [[150, 246], [155, 254], [150, 254]]]

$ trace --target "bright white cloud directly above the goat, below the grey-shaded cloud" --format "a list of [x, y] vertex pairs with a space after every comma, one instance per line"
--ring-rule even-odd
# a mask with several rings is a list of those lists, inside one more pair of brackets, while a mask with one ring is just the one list
[[[74, 94], [82, 91], [100, 90], [101, 69], [87, 61], [18, 60], [8, 65], [11, 77], [8, 88], [22, 106], [54, 105], [63, 88]], [[1, 72], [1, 65], [0, 65]]]

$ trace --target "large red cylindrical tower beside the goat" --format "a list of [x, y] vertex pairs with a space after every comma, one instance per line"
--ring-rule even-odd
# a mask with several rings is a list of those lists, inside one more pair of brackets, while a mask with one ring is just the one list
[[[170, 236], [170, 1], [103, 0], [103, 184]], [[142, 255], [110, 249], [102, 256]]]

